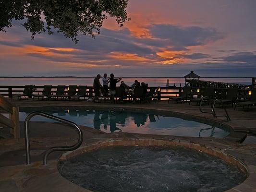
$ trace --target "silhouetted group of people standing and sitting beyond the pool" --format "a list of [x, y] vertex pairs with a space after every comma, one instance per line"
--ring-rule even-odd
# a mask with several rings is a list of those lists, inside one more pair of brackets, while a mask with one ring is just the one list
[[[116, 84], [119, 83], [122, 78], [114, 78], [115, 75], [113, 73], [110, 74], [110, 78], [107, 77], [107, 73], [103, 75], [102, 78], [102, 85], [100, 84], [100, 74], [96, 76], [93, 82], [93, 89], [94, 89], [94, 102], [99, 102], [98, 97], [100, 96], [100, 91], [102, 92], [103, 96], [108, 96], [110, 94], [110, 102], [114, 102], [114, 98], [116, 95]], [[137, 87], [143, 87], [143, 93], [147, 94], [147, 86], [145, 83], [138, 82], [137, 80], [134, 81], [134, 84], [131, 85], [131, 88], [136, 90]], [[125, 97], [125, 90], [129, 89], [129, 86], [125, 84], [123, 81], [121, 81], [121, 84], [119, 86], [123, 91], [123, 94], [121, 94], [121, 100]]]

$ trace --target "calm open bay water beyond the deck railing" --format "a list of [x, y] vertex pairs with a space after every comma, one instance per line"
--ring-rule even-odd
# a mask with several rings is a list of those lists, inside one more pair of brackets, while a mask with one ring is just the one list
[[[94, 78], [77, 78], [77, 77], [65, 77], [65, 78], [0, 78], [0, 85], [25, 85], [25, 84], [35, 84], [35, 85], [88, 85], [92, 86]], [[134, 80], [137, 79], [139, 82], [145, 82], [148, 86], [166, 86], [166, 80], [169, 79], [169, 85], [176, 84], [176, 86], [184, 86], [184, 78], [122, 78], [122, 80], [128, 84], [132, 85]], [[201, 80], [207, 81], [217, 81], [225, 83], [235, 83], [235, 84], [252, 84], [251, 78], [201, 78]], [[100, 79], [102, 83], [102, 79]]]

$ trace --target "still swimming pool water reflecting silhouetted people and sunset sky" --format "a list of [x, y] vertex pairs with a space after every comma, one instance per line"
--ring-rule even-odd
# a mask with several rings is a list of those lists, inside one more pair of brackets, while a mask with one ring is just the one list
[[[215, 126], [183, 120], [181, 118], [159, 115], [157, 112], [136, 112], [128, 110], [86, 109], [86, 108], [55, 108], [51, 110], [43, 108], [22, 109], [20, 120], [32, 111], [41, 110], [49, 114], [71, 120], [78, 125], [94, 127], [103, 132], [133, 132], [144, 134], [176, 135], [191, 137], [218, 137], [229, 134]], [[32, 121], [53, 121], [36, 116]]]

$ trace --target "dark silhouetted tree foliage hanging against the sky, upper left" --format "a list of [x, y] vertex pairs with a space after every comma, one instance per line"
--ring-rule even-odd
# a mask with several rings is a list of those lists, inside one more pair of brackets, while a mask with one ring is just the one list
[[100, 33], [103, 20], [108, 15], [123, 23], [127, 17], [128, 0], [0, 0], [0, 31], [12, 27], [12, 20], [23, 20], [24, 27], [32, 34], [48, 31], [52, 28], [77, 43], [77, 35]]

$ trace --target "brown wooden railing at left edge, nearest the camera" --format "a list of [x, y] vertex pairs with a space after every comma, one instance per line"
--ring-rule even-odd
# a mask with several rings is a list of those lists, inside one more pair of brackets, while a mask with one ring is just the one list
[[0, 109], [3, 113], [8, 113], [9, 118], [0, 114], [0, 123], [8, 126], [14, 138], [20, 138], [20, 121], [19, 121], [19, 108], [12, 105], [4, 96], [0, 95]]

